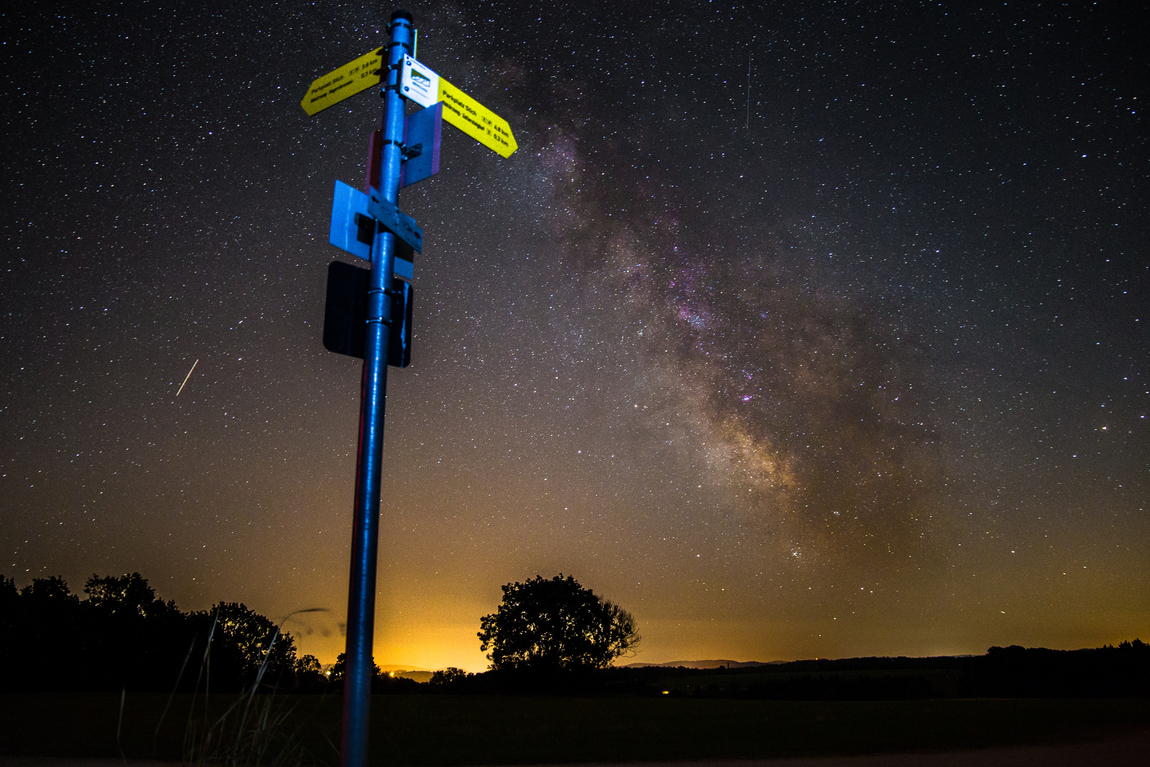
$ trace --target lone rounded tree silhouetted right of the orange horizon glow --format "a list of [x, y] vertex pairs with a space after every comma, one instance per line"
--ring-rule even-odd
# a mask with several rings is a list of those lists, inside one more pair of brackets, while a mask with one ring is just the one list
[[503, 586], [497, 612], [480, 622], [480, 650], [494, 670], [604, 668], [639, 643], [626, 609], [562, 574]]

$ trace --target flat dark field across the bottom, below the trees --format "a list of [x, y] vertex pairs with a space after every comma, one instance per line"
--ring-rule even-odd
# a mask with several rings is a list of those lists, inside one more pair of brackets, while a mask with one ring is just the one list
[[[235, 696], [210, 700], [213, 719]], [[179, 759], [191, 696], [129, 693], [120, 746], [116, 693], [0, 696], [6, 756]], [[255, 707], [268, 703], [256, 697]], [[204, 697], [193, 722], [204, 720]], [[376, 765], [754, 759], [1056, 744], [1150, 729], [1148, 699], [723, 700], [377, 696]], [[276, 736], [290, 764], [337, 764], [340, 700], [281, 696]], [[277, 746], [278, 747], [278, 746]], [[269, 754], [271, 756], [271, 754]]]

